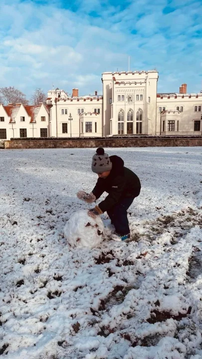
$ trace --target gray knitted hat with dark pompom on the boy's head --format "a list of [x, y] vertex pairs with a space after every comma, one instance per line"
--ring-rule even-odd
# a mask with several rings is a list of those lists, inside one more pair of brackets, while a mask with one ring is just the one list
[[100, 174], [100, 173], [103, 173], [106, 171], [111, 171], [112, 163], [110, 161], [108, 154], [105, 153], [105, 151], [102, 147], [99, 147], [96, 150], [96, 154], [93, 156], [91, 168], [92, 168], [92, 171], [97, 174]]

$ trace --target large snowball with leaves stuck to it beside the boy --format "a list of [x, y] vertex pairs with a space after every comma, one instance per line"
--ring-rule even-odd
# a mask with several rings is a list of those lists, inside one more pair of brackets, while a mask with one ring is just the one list
[[103, 240], [104, 224], [100, 216], [89, 217], [87, 210], [78, 210], [64, 226], [67, 242], [77, 247], [97, 247]]

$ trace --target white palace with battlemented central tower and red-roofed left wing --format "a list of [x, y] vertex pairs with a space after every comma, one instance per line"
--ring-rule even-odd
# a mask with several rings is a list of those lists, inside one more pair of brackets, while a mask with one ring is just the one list
[[46, 105], [0, 105], [0, 139], [202, 135], [202, 93], [158, 93], [158, 71], [105, 72], [103, 95], [48, 91]]

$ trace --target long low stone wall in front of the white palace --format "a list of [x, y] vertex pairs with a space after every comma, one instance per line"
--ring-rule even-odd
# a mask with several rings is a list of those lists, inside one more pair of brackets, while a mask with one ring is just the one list
[[5, 149], [97, 148], [97, 147], [183, 147], [202, 146], [201, 138], [103, 138], [71, 140], [11, 140]]

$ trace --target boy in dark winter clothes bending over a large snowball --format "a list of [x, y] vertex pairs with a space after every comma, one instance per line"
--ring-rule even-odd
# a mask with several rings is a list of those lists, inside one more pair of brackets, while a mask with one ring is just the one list
[[116, 231], [112, 239], [119, 241], [129, 239], [127, 209], [140, 194], [140, 179], [134, 172], [124, 167], [124, 161], [120, 157], [109, 157], [102, 147], [96, 150], [91, 168], [98, 175], [97, 183], [91, 193], [79, 191], [77, 197], [87, 203], [93, 203], [104, 191], [108, 192], [108, 196], [90, 209], [88, 214], [95, 218], [106, 211]]

